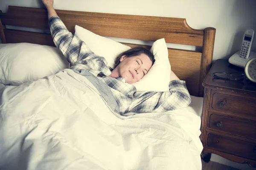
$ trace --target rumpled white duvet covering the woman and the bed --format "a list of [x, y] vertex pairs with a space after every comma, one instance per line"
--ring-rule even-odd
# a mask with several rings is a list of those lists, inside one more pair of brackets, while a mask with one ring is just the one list
[[176, 111], [120, 116], [69, 69], [0, 95], [1, 170], [201, 170], [194, 99]]

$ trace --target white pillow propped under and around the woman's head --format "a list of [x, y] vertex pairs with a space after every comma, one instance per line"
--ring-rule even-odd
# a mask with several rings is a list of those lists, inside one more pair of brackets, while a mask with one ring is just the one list
[[[116, 57], [130, 49], [129, 46], [106, 37], [94, 34], [80, 26], [75, 27], [75, 35], [87, 44], [95, 54], [105, 57], [108, 66], [114, 66]], [[138, 91], [169, 91], [171, 65], [168, 59], [168, 50], [164, 39], [157, 40], [151, 47], [156, 59], [148, 74], [133, 85]]]

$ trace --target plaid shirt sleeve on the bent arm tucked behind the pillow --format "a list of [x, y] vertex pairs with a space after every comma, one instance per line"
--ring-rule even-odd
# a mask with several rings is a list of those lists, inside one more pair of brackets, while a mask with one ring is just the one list
[[169, 83], [169, 91], [165, 92], [135, 92], [136, 98], [129, 112], [148, 113], [166, 112], [184, 108], [191, 102], [191, 96], [183, 80], [173, 80]]

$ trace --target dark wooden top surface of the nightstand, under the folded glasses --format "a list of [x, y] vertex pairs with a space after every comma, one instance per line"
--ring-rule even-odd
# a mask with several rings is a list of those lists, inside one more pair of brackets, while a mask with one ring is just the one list
[[227, 59], [217, 59], [204, 79], [204, 82], [203, 82], [204, 87], [224, 88], [224, 89], [232, 88], [232, 89], [250, 91], [250, 92], [256, 93], [256, 83], [251, 82], [250, 80], [245, 78], [242, 80], [218, 79], [218, 78], [212, 77], [212, 74], [215, 72], [244, 74], [244, 69], [230, 64]]

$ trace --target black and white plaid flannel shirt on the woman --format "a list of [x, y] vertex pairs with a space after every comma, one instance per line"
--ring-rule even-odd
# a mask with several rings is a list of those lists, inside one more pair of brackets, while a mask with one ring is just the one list
[[185, 81], [182, 80], [171, 81], [166, 92], [140, 92], [134, 85], [126, 83], [125, 78], [108, 77], [111, 70], [105, 58], [94, 54], [79, 37], [70, 33], [58, 16], [49, 19], [49, 26], [56, 47], [71, 64], [70, 69], [79, 72], [84, 69], [95, 77], [102, 75], [97, 78], [111, 89], [119, 105], [119, 114], [166, 112], [186, 107], [191, 102]]

